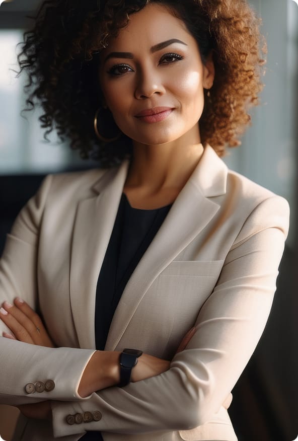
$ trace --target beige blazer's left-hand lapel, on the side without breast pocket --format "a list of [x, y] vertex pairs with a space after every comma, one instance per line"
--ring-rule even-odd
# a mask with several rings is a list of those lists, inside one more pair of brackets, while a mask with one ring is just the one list
[[[94, 310], [100, 268], [113, 230], [128, 162], [104, 173], [95, 195], [79, 202], [70, 262], [70, 305], [81, 348], [95, 348]], [[99, 193], [99, 194], [98, 194]]]

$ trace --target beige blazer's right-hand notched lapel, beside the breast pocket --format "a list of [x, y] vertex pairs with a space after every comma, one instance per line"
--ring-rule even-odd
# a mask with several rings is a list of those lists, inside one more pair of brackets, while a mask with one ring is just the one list
[[228, 169], [210, 146], [131, 275], [115, 311], [106, 350], [114, 350], [156, 277], [206, 227], [219, 209], [210, 197], [226, 193]]

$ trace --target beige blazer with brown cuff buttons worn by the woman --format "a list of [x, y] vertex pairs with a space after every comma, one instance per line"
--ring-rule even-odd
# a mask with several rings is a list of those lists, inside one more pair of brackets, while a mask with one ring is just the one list
[[[21, 296], [38, 308], [58, 347], [0, 338], [0, 402], [52, 400], [53, 424], [22, 418], [15, 439], [23, 441], [75, 441], [87, 430], [102, 431], [105, 441], [236, 441], [227, 397], [269, 315], [287, 202], [229, 171], [206, 146], [131, 275], [106, 344], [170, 359], [171, 368], [82, 399], [96, 284], [127, 166], [48, 176], [18, 216], [0, 264], [0, 300]], [[194, 324], [196, 334], [175, 355]], [[26, 392], [47, 380], [52, 390]], [[84, 421], [86, 412], [98, 421]]]

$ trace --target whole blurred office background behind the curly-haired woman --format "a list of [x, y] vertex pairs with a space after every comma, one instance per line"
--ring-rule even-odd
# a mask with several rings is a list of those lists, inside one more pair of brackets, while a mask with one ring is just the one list
[[[298, 0], [249, 2], [263, 19], [268, 43], [266, 87], [242, 146], [231, 150], [225, 162], [284, 196], [291, 227], [272, 312], [234, 388], [229, 413], [239, 441], [292, 441], [298, 435]], [[57, 143], [55, 134], [46, 143], [38, 110], [25, 113], [27, 119], [20, 115], [25, 79], [16, 79], [10, 69], [17, 69], [16, 45], [31, 27], [27, 16], [39, 3], [11, 0], [0, 7], [0, 254], [13, 219], [45, 174], [96, 166]], [[0, 435], [7, 441], [16, 414], [14, 408], [0, 406]]]

